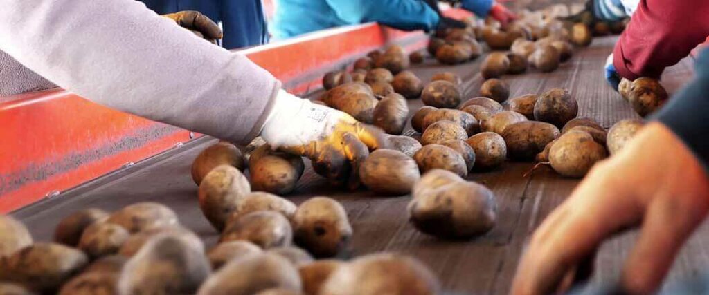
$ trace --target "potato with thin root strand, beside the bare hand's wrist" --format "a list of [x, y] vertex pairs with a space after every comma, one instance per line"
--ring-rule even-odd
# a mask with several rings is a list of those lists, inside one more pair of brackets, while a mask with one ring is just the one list
[[581, 131], [564, 133], [549, 149], [549, 163], [562, 176], [581, 178], [593, 164], [608, 156], [605, 147]]

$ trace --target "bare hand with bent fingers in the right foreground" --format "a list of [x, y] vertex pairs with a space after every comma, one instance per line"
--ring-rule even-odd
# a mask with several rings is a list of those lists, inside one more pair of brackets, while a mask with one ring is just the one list
[[631, 228], [640, 235], [625, 258], [622, 291], [612, 294], [654, 294], [707, 216], [708, 195], [709, 175], [693, 151], [665, 125], [649, 123], [535, 230], [510, 294], [565, 294], [577, 275], [588, 278], [603, 241]]

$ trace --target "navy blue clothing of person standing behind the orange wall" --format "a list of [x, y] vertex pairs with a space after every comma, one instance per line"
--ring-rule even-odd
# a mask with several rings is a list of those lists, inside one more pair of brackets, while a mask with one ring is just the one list
[[199, 11], [221, 23], [226, 49], [268, 42], [268, 28], [261, 0], [140, 0], [159, 14]]

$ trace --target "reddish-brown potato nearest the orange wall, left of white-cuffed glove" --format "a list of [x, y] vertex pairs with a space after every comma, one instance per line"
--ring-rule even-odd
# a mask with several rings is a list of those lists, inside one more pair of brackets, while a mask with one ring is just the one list
[[196, 185], [199, 185], [207, 173], [221, 165], [234, 166], [239, 170], [246, 168], [241, 151], [227, 141], [219, 141], [201, 151], [194, 159], [191, 168], [192, 180]]

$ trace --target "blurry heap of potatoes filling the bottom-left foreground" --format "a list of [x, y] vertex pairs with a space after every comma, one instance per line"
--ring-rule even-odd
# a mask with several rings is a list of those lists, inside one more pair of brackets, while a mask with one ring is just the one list
[[0, 215], [0, 294], [440, 294], [435, 275], [414, 258], [330, 258], [352, 235], [335, 200], [313, 197], [296, 206], [248, 192], [242, 177], [233, 166], [218, 166], [201, 181], [201, 205], [204, 185], [222, 196], [209, 199], [212, 206], [245, 194], [225, 206], [233, 208], [229, 214], [205, 212], [215, 227], [227, 219], [210, 249], [172, 209], [152, 202], [75, 212], [57, 224], [51, 243], [34, 242], [21, 222]]

